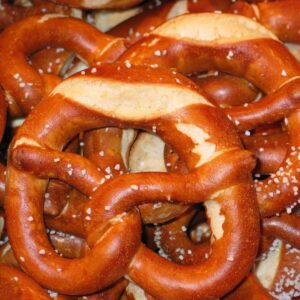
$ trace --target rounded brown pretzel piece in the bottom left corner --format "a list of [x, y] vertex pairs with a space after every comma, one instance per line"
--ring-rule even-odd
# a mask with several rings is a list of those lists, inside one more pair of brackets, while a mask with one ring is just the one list
[[1, 299], [37, 299], [50, 300], [50, 296], [25, 273], [0, 264]]

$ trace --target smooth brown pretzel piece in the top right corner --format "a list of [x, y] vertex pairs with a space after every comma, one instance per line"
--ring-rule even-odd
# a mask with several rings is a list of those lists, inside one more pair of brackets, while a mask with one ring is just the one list
[[257, 3], [255, 6], [239, 1], [230, 7], [229, 12], [255, 18], [284, 42], [299, 43], [299, 10], [297, 0]]

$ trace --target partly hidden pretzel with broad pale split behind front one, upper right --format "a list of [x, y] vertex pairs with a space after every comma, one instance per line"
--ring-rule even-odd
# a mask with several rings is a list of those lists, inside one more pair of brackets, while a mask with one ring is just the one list
[[[193, 29], [199, 26], [201, 32]], [[298, 186], [295, 154], [299, 137], [295, 109], [299, 107], [300, 67], [271, 32], [241, 16], [190, 14], [158, 27], [149, 37], [130, 47], [120, 61], [175, 68], [184, 74], [217, 69], [242, 76], [269, 94], [258, 102], [225, 111], [239, 130], [288, 116], [291, 151], [271, 179], [257, 183], [257, 196], [263, 216], [280, 212], [297, 201], [293, 187], [297, 189]], [[290, 178], [294, 178], [294, 182], [289, 182], [290, 186], [286, 186], [283, 176], [288, 172]]]

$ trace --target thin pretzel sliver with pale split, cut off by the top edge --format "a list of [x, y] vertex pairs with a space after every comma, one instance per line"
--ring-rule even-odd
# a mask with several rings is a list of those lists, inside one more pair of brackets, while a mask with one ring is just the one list
[[125, 9], [141, 3], [143, 0], [109, 0], [109, 1], [83, 1], [83, 0], [53, 0], [53, 2], [65, 4], [71, 7], [88, 9]]

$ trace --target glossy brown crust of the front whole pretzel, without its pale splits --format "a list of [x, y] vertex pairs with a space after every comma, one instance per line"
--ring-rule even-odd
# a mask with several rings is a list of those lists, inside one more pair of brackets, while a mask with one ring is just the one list
[[[192, 82], [165, 69], [104, 64], [96, 69], [96, 72], [90, 69], [85, 72], [86, 76], [77, 75], [64, 83], [72, 82], [75, 78], [101, 79], [108, 82], [118, 81], [118, 84], [121, 81], [132, 82], [132, 87], [136, 83], [153, 84], [153, 88], [158, 89], [163, 82], [175, 89], [184, 88], [193, 93], [199, 91]], [[141, 74], [144, 76], [141, 77]], [[130, 121], [113, 117], [109, 113], [104, 114], [101, 110], [92, 110], [74, 101], [59, 93], [45, 98], [26, 119], [11, 144], [7, 188], [11, 201], [5, 203], [5, 208], [9, 236], [22, 268], [44, 286], [70, 294], [89, 293], [105, 288], [126, 273], [146, 292], [160, 299], [172, 299], [175, 294], [181, 299], [214, 298], [238, 284], [251, 268], [259, 239], [258, 208], [250, 179], [254, 161], [250, 153], [242, 150], [233, 125], [222, 111], [198, 103], [174, 113], [152, 117], [153, 119]], [[59, 111], [65, 113], [58, 114]], [[43, 120], [40, 118], [41, 114], [45, 116]], [[179, 116], [182, 124], [204, 127], [211, 136], [210, 141], [216, 144], [216, 150], [224, 153], [210, 163], [196, 167], [199, 155], [191, 151], [195, 143], [174, 126]], [[75, 123], [67, 122], [71, 119], [76, 120]], [[49, 127], [45, 127], [45, 124], [49, 124]], [[72, 157], [71, 176], [67, 167], [71, 154], [63, 154], [57, 150], [79, 131], [106, 127], [108, 124], [139, 127], [149, 131], [156, 124], [157, 134], [176, 149], [191, 172], [185, 177], [180, 174], [161, 173], [126, 174], [103, 184], [101, 189], [93, 193], [97, 186], [94, 178], [97, 176], [92, 178], [90, 175], [94, 170], [92, 163], [88, 166], [88, 161], [84, 158]], [[33, 140], [33, 144], [38, 143], [41, 147], [26, 143], [22, 145], [22, 140]], [[55, 163], [55, 158], [60, 159], [59, 164]], [[43, 167], [37, 163], [41, 160], [46, 162]], [[83, 168], [89, 176], [82, 176]], [[96, 172], [99, 173], [97, 169]], [[214, 182], [211, 181], [209, 172], [218, 175]], [[92, 250], [83, 258], [66, 260], [50, 247], [41, 214], [41, 196], [46, 181], [35, 176], [65, 180], [81, 192], [92, 196], [85, 208], [86, 237]], [[170, 185], [172, 179], [174, 184]], [[183, 203], [199, 202], [220, 190], [222, 192], [214, 201], [220, 205], [221, 213], [225, 217], [224, 235], [213, 243], [212, 254], [203, 265], [188, 267], [165, 263], [157, 254], [151, 252], [144, 259], [148, 250], [140, 244], [139, 216], [132, 208], [145, 202], [167, 202], [169, 198], [166, 195], [170, 195], [171, 200]], [[21, 218], [16, 217], [20, 215]], [[32, 222], [28, 220], [31, 215], [34, 215]], [[247, 218], [239, 218], [239, 215], [247, 215]], [[116, 216], [119, 217], [115, 218]], [[121, 222], [118, 221], [120, 216]], [[46, 255], [39, 255], [41, 248], [45, 249]], [[211, 274], [208, 276], [209, 280], [204, 276], [203, 268], [206, 269], [206, 274]], [[110, 272], [107, 273], [107, 270]], [[157, 270], [160, 270], [158, 277]], [[156, 276], [153, 276], [154, 271]], [[149, 276], [145, 276], [143, 272], [149, 272]], [[84, 278], [81, 275], [83, 273]], [[228, 274], [232, 274], [230, 281], [225, 280]]]

